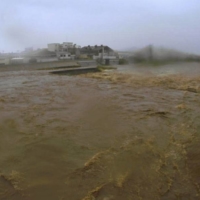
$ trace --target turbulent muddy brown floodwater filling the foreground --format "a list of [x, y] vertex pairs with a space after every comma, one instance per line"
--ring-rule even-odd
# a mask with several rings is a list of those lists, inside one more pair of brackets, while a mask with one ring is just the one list
[[200, 199], [199, 144], [198, 63], [0, 72], [2, 200]]

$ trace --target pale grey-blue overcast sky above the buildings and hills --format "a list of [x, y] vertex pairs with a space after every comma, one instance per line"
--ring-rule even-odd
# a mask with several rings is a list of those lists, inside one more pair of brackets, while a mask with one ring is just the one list
[[0, 0], [0, 52], [64, 41], [200, 54], [200, 0]]

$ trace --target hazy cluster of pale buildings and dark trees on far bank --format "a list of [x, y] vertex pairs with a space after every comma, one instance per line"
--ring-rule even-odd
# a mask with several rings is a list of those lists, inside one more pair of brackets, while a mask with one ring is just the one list
[[118, 54], [108, 46], [84, 46], [72, 42], [50, 43], [47, 48], [25, 48], [20, 53], [0, 53], [0, 65], [94, 59], [104, 64], [118, 62]]

